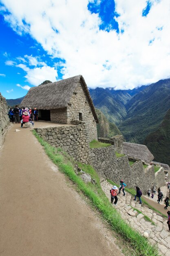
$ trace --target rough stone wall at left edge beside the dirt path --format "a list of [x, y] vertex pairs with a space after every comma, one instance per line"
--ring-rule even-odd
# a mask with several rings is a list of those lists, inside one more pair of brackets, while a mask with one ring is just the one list
[[7, 114], [7, 102], [0, 93], [0, 147], [4, 143], [4, 137], [9, 127], [9, 116]]

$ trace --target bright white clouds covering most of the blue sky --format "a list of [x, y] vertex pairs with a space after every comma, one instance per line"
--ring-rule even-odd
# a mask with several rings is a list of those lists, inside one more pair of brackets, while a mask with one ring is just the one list
[[[15, 31], [29, 33], [52, 57], [65, 60], [61, 64], [63, 78], [82, 74], [91, 88], [128, 89], [170, 77], [169, 0], [150, 1], [146, 17], [142, 16], [146, 0], [115, 0], [119, 31], [124, 31], [119, 34], [99, 29], [102, 20], [88, 11], [88, 0], [2, 2], [11, 12], [4, 14], [5, 20]], [[54, 68], [38, 67], [33, 56], [28, 59], [34, 69], [24, 64], [18, 67], [27, 72], [31, 84], [55, 81]]]

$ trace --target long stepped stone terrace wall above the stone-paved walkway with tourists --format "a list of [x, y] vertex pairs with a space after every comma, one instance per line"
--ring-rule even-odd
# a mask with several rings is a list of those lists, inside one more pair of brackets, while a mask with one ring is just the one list
[[[129, 188], [139, 186], [143, 193], [146, 193], [149, 187], [156, 185], [153, 166], [144, 169], [142, 161], [137, 161], [130, 166], [127, 156], [116, 157], [114, 146], [91, 149], [90, 162], [100, 177], [113, 180], [118, 184], [123, 179]], [[157, 184], [160, 184], [159, 180]]]

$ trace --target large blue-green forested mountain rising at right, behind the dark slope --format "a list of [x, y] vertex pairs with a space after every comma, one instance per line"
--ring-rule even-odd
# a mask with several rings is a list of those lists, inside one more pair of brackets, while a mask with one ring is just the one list
[[126, 141], [143, 144], [146, 136], [159, 127], [170, 108], [170, 79], [152, 83], [125, 105], [127, 115], [119, 126]]

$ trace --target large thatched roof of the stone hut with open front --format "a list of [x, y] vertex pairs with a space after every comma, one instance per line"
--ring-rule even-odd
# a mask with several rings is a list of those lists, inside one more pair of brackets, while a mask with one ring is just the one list
[[93, 101], [82, 75], [73, 76], [54, 83], [32, 87], [24, 97], [20, 106], [44, 110], [66, 108], [79, 82], [82, 84], [82, 88], [88, 99], [88, 103], [91, 106], [93, 116], [98, 122]]

